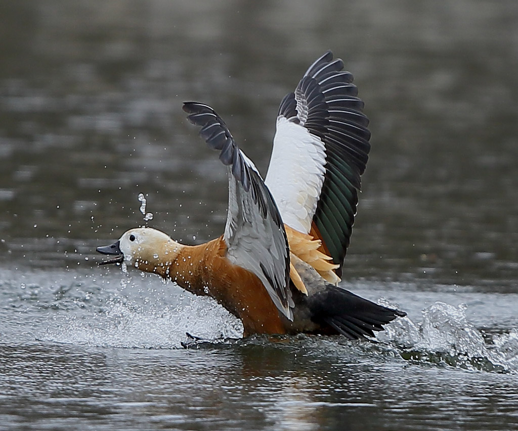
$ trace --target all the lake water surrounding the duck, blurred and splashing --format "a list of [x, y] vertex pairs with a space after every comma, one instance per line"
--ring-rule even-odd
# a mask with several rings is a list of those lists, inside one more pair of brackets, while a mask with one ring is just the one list
[[[518, 428], [514, 0], [26, 0], [0, 35], [0, 429]], [[372, 131], [342, 285], [407, 318], [243, 340], [213, 301], [97, 265], [139, 225], [220, 235], [226, 171], [181, 102], [264, 174], [327, 49]]]

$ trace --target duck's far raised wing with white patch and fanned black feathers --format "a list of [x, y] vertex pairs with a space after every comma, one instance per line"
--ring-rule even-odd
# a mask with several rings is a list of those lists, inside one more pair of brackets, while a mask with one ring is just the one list
[[339, 276], [370, 150], [357, 94], [331, 51], [316, 60], [281, 102], [265, 180], [284, 222], [320, 239]]

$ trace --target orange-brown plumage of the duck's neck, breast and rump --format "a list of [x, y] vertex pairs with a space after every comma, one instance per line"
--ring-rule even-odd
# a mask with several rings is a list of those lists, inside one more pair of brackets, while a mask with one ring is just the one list
[[[298, 299], [301, 295], [308, 295], [305, 280], [293, 264], [297, 258], [313, 267], [320, 276], [328, 279], [334, 276], [330, 278], [332, 281], [338, 279], [334, 273], [337, 265], [330, 263], [330, 258], [317, 250], [320, 241], [289, 226], [285, 225], [285, 229], [292, 256], [290, 276], [293, 295]], [[153, 231], [145, 232], [151, 235]], [[179, 244], [165, 234], [151, 241], [152, 248], [137, 247], [135, 266], [142, 271], [171, 279], [196, 295], [211, 296], [242, 321], [244, 336], [311, 332], [316, 329], [314, 323], [306, 321], [307, 316], [297, 318], [295, 313], [292, 322], [279, 312], [262, 281], [254, 273], [233, 264], [227, 258], [223, 235], [196, 246]], [[288, 288], [291, 289], [290, 286]]]

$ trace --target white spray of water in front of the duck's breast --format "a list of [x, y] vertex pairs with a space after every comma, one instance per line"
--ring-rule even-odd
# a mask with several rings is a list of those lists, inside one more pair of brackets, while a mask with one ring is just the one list
[[146, 306], [115, 298], [105, 304], [102, 314], [88, 319], [76, 315], [56, 318], [40, 338], [66, 344], [175, 349], [189, 340], [186, 332], [215, 341], [240, 337], [242, 326], [209, 299], [189, 297], [177, 306]]

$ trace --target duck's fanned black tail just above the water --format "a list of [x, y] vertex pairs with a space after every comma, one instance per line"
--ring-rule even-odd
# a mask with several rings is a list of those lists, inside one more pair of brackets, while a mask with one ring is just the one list
[[330, 326], [337, 333], [355, 340], [373, 337], [374, 331], [383, 331], [383, 326], [397, 316], [406, 316], [404, 311], [383, 307], [361, 298], [349, 290], [329, 285], [323, 292], [308, 298], [311, 320]]

